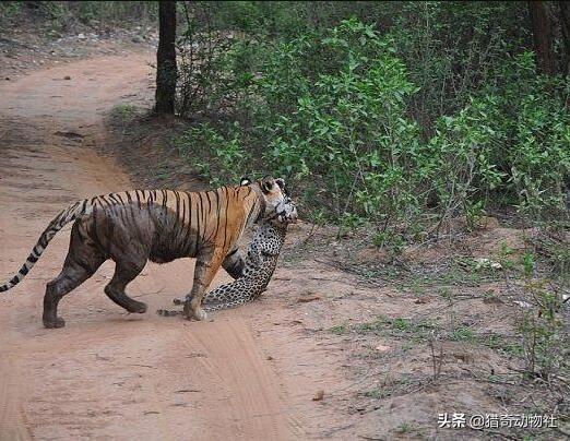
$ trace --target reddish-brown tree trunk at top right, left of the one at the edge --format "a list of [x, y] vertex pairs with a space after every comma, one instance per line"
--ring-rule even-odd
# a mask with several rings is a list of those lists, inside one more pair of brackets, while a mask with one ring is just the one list
[[546, 2], [529, 1], [529, 13], [534, 34], [534, 52], [541, 72], [555, 73], [553, 59], [553, 24], [546, 11]]

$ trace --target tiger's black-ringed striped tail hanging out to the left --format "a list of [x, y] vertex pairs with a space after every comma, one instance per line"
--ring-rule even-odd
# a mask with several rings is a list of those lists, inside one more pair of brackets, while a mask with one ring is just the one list
[[17, 272], [9, 282], [3, 285], [0, 285], [0, 293], [7, 291], [10, 288], [17, 285], [34, 267], [39, 257], [47, 248], [49, 241], [56, 236], [56, 234], [63, 228], [67, 224], [72, 221], [75, 221], [78, 217], [90, 214], [92, 212], [92, 206], [88, 203], [88, 200], [82, 200], [75, 202], [73, 205], [70, 205], [68, 208], [63, 210], [59, 213], [47, 226], [47, 228], [41, 233], [39, 239], [37, 240], [35, 247], [32, 249], [32, 252], [27, 257], [26, 261]]

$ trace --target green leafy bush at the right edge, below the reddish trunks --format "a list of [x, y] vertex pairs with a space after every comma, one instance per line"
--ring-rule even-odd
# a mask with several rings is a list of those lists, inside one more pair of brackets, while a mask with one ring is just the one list
[[435, 179], [446, 214], [501, 193], [511, 194], [532, 219], [568, 221], [568, 90], [561, 78], [537, 75], [527, 51], [506, 61], [496, 75], [500, 87], [483, 90], [456, 116], [438, 121], [425, 175]]

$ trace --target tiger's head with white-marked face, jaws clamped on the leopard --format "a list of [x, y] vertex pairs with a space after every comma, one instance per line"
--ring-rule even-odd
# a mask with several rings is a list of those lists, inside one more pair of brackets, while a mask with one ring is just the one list
[[264, 211], [260, 216], [264, 221], [290, 224], [297, 222], [297, 206], [289, 196], [283, 178], [265, 177], [257, 181], [242, 178], [241, 186], [252, 186], [263, 196]]

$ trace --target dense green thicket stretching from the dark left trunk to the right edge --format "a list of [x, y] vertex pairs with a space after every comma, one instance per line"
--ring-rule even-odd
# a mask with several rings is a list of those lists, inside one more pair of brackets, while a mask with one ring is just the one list
[[567, 223], [569, 83], [536, 68], [524, 4], [361, 3], [183, 3], [180, 154], [285, 175], [380, 245], [501, 207]]

